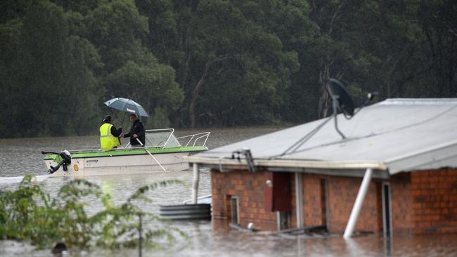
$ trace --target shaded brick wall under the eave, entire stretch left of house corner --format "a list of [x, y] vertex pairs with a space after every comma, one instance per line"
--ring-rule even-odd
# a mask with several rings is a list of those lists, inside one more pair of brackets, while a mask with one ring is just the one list
[[[250, 173], [248, 171], [231, 171], [221, 173], [212, 171], [212, 213], [216, 219], [230, 219], [228, 196], [238, 196], [240, 204], [240, 225], [247, 226], [253, 222], [260, 230], [277, 230], [276, 213], [264, 209], [264, 172]], [[292, 176], [292, 197], [285, 199], [292, 202], [291, 228], [297, 224], [295, 212], [295, 176]], [[326, 225], [323, 212], [325, 202], [325, 188], [322, 179], [328, 180], [328, 201], [330, 213], [330, 232], [342, 233], [345, 230], [352, 205], [356, 199], [361, 184], [361, 178], [347, 178], [335, 176], [318, 176], [302, 174], [304, 225]], [[380, 206], [380, 192], [377, 185], [371, 182], [356, 230], [381, 231], [382, 207]], [[378, 211], [378, 210], [381, 211]]]

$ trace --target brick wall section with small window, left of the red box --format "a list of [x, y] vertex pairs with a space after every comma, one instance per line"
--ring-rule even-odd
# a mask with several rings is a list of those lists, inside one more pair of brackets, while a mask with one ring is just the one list
[[228, 196], [237, 196], [240, 225], [255, 224], [259, 230], [277, 230], [276, 213], [264, 208], [265, 172], [211, 172], [213, 218], [230, 220]]

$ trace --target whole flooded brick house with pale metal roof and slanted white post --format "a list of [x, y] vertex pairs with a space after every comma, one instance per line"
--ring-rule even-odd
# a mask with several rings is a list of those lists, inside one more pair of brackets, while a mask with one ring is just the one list
[[337, 118], [345, 139], [322, 119], [188, 157], [195, 174], [211, 169], [212, 218], [345, 237], [457, 232], [457, 99], [389, 99]]

